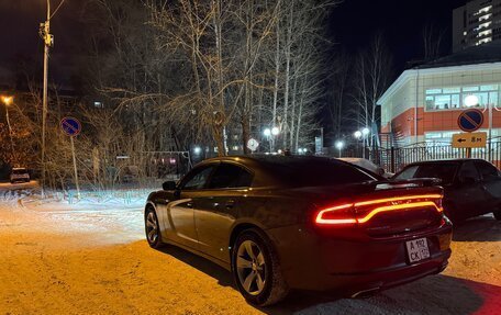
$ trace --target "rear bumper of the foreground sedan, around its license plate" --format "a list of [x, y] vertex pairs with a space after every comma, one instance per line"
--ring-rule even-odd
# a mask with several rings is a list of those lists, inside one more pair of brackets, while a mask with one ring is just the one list
[[[267, 230], [276, 244], [282, 272], [293, 289], [364, 295], [439, 273], [450, 257], [452, 226], [393, 238], [325, 238], [314, 230], [281, 227]], [[425, 237], [431, 257], [410, 263], [405, 241]]]

